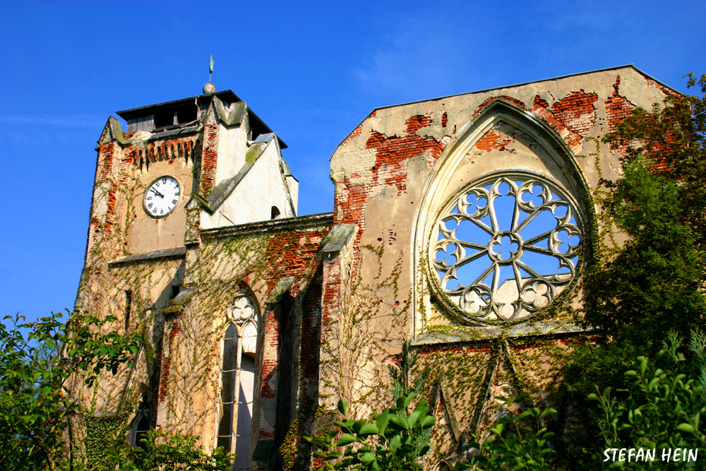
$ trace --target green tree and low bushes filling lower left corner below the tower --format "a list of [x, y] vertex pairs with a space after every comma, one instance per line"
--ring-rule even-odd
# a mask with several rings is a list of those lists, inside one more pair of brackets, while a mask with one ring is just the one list
[[198, 437], [149, 431], [143, 446], [124, 437], [104, 443], [106, 460], [95, 466], [71, 447], [71, 417], [80, 398], [69, 381], [92, 386], [105, 371], [134, 367], [143, 336], [103, 333], [115, 318], [52, 314], [35, 322], [17, 315], [0, 323], [0, 469], [15, 471], [227, 471], [234, 455], [196, 446]]

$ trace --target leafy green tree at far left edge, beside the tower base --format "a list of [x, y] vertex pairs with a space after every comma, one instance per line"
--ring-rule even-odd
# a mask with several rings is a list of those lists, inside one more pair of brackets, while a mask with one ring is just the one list
[[110, 317], [73, 314], [64, 323], [61, 314], [52, 314], [30, 323], [20, 316], [4, 321], [9, 325], [0, 323], [0, 436], [9, 439], [0, 441], [0, 467], [54, 470], [78, 411], [68, 381], [90, 386], [102, 371], [131, 366], [143, 339], [101, 333], [114, 321]]

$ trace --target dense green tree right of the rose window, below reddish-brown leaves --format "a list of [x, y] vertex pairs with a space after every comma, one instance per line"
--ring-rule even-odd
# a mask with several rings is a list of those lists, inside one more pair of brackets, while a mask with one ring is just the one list
[[586, 321], [612, 340], [657, 347], [670, 329], [688, 333], [706, 314], [706, 265], [681, 186], [648, 162], [628, 160], [604, 202], [630, 239], [590, 273]]

